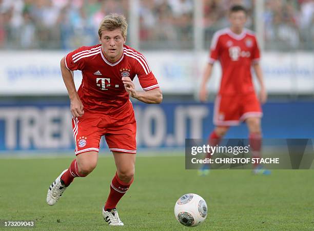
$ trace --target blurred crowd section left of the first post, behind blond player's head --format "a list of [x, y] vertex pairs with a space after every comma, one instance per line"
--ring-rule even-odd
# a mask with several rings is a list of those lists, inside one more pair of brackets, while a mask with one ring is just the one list
[[0, 0], [0, 46], [72, 49], [96, 44], [102, 18], [128, 14], [128, 0]]

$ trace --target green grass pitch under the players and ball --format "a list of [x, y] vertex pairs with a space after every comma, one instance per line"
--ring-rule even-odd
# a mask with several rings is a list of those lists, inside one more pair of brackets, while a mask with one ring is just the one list
[[[134, 183], [117, 206], [125, 226], [109, 227], [101, 209], [115, 172], [112, 157], [100, 157], [56, 205], [46, 204], [49, 185], [72, 159], [0, 159], [0, 219], [34, 220], [36, 230], [314, 229], [314, 170], [273, 170], [270, 176], [212, 170], [199, 177], [184, 169], [183, 157], [139, 156]], [[208, 205], [207, 219], [193, 228], [173, 215], [175, 201], [189, 192]]]

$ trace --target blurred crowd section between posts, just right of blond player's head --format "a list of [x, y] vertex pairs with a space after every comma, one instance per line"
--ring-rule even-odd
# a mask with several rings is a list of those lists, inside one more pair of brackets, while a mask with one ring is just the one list
[[140, 41], [144, 49], [193, 48], [192, 0], [141, 0]]

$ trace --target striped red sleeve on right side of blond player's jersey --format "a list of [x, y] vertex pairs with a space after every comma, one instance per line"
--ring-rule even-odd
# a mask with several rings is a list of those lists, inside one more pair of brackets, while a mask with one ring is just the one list
[[125, 47], [124, 55], [133, 58], [135, 74], [138, 75], [139, 82], [144, 91], [159, 88], [159, 84], [143, 54]]

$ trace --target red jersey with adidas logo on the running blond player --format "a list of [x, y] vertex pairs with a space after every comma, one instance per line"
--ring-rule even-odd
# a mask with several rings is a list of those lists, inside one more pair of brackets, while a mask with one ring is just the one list
[[138, 75], [143, 90], [158, 88], [158, 82], [140, 52], [131, 47], [123, 47], [123, 55], [115, 63], [110, 63], [102, 52], [101, 45], [80, 47], [65, 57], [69, 70], [82, 71], [82, 84], [78, 95], [84, 110], [114, 113], [131, 106], [129, 94], [122, 83], [123, 76], [131, 80]]

